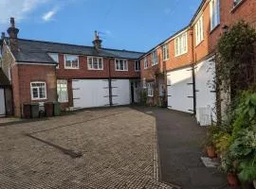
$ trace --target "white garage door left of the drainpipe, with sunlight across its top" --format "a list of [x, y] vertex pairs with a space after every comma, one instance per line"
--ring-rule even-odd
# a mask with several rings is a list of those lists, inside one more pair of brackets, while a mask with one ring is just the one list
[[167, 73], [168, 107], [193, 113], [192, 68], [187, 67]]

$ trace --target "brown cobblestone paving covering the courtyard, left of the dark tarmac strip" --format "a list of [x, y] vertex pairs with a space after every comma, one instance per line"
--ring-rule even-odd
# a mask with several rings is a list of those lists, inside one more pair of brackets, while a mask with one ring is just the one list
[[0, 127], [0, 188], [172, 189], [155, 151], [155, 118], [129, 108]]

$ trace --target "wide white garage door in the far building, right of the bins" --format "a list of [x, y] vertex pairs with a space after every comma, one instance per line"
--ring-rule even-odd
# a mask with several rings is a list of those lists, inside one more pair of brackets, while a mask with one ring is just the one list
[[72, 80], [75, 109], [109, 106], [107, 79]]

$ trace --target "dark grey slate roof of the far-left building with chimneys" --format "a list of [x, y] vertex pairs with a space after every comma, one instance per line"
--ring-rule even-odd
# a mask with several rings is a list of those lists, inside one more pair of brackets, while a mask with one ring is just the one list
[[[6, 38], [6, 41], [9, 43], [9, 38]], [[28, 63], [38, 62], [55, 64], [56, 62], [48, 56], [48, 53], [63, 53], [71, 55], [86, 55], [132, 60], [136, 60], [144, 54], [141, 52], [110, 48], [101, 48], [97, 50], [93, 46], [83, 46], [68, 43], [52, 43], [25, 39], [18, 39], [18, 46], [19, 51], [17, 53], [12, 52], [15, 60], [18, 62]]]

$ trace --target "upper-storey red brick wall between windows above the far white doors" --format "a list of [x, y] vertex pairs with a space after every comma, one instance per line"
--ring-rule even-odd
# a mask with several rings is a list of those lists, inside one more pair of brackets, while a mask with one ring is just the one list
[[56, 69], [58, 78], [99, 78], [109, 77], [109, 60], [111, 64], [112, 77], [139, 77], [135, 71], [135, 60], [128, 60], [128, 71], [116, 71], [115, 59], [103, 58], [103, 70], [88, 70], [87, 57], [79, 57], [79, 69], [64, 69], [64, 55], [59, 54], [60, 68]]

